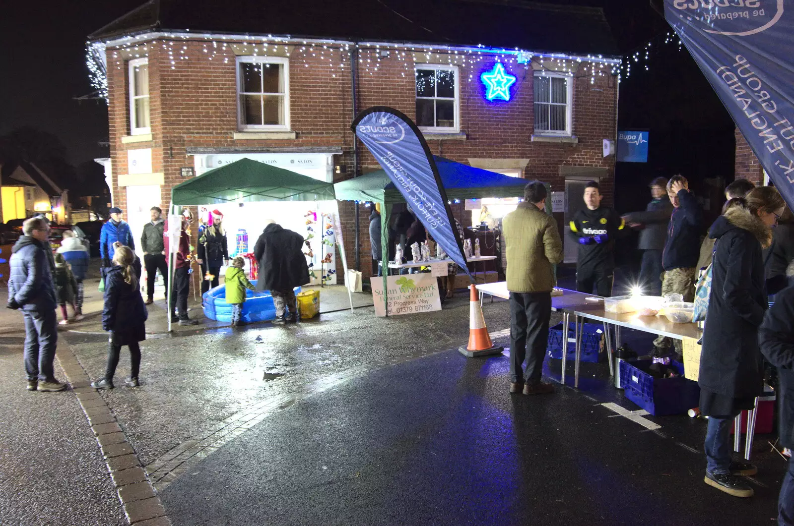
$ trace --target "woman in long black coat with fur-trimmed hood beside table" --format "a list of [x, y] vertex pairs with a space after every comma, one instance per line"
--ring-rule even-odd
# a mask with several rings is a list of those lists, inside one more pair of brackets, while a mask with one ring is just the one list
[[700, 413], [709, 417], [704, 482], [734, 497], [753, 495], [739, 475], [757, 473], [731, 460], [730, 424], [763, 392], [758, 326], [768, 302], [761, 251], [772, 243], [784, 205], [777, 190], [761, 186], [732, 199], [708, 234], [716, 242], [698, 378]]

